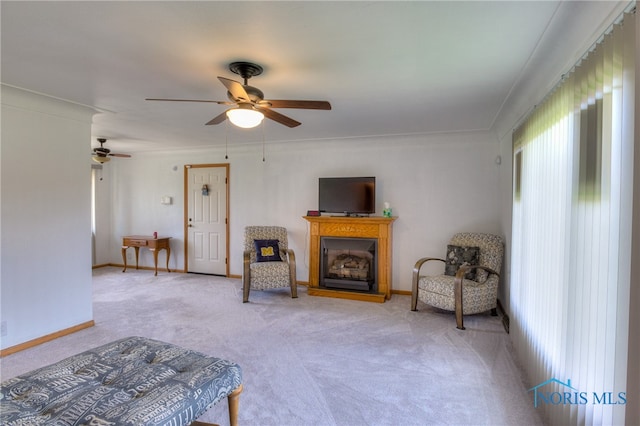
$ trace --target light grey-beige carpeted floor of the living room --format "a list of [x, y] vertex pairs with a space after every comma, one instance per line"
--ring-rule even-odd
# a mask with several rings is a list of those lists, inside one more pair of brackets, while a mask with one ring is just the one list
[[[541, 425], [499, 317], [253, 291], [239, 279], [94, 270], [96, 326], [7, 356], [2, 380], [140, 335], [237, 362], [241, 425]], [[200, 418], [228, 424], [226, 403]]]

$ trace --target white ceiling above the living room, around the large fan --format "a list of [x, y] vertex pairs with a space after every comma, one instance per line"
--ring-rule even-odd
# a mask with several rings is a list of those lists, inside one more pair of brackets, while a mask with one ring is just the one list
[[[93, 106], [93, 137], [120, 152], [488, 130], [522, 79], [557, 1], [2, 1], [4, 84]], [[302, 125], [204, 124], [225, 106], [233, 61]], [[95, 144], [95, 141], [94, 141]]]

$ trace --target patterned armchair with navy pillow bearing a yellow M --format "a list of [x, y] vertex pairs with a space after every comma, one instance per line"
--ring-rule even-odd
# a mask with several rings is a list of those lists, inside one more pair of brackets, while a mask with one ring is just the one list
[[242, 301], [249, 301], [249, 291], [291, 287], [291, 297], [298, 297], [296, 257], [288, 247], [287, 229], [280, 226], [244, 228], [244, 265]]

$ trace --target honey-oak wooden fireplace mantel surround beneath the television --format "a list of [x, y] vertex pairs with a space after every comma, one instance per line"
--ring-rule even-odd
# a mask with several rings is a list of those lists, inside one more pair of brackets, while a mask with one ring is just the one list
[[[310, 223], [309, 289], [311, 296], [338, 297], [383, 303], [391, 298], [391, 225], [395, 217], [304, 216]], [[378, 240], [378, 291], [359, 293], [320, 287], [320, 238], [375, 238]]]

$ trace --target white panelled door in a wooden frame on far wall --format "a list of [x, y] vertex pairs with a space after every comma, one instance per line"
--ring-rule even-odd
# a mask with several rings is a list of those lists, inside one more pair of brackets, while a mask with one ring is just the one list
[[227, 165], [186, 166], [188, 272], [227, 275], [227, 174]]

